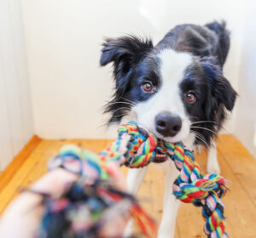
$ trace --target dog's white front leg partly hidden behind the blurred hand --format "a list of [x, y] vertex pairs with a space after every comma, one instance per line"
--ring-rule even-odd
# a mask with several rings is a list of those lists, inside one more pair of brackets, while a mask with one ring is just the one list
[[[142, 168], [129, 168], [126, 183], [127, 190], [132, 195], [137, 195], [137, 192], [143, 183], [143, 178], [145, 177], [148, 171], [148, 166]], [[131, 219], [125, 228], [124, 237], [130, 237], [133, 230], [133, 220]]]

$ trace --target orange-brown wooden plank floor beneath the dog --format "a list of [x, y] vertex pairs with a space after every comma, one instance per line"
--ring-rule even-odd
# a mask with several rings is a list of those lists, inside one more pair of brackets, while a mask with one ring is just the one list
[[[46, 173], [49, 157], [54, 156], [64, 144], [82, 144], [90, 150], [102, 150], [110, 140], [32, 139], [26, 150], [0, 175], [0, 213], [17, 195], [20, 189], [32, 184]], [[29, 155], [30, 154], [30, 155]], [[28, 156], [29, 155], [29, 156]], [[206, 153], [196, 155], [196, 160], [206, 172]], [[218, 139], [218, 161], [222, 175], [229, 181], [230, 192], [224, 197], [227, 231], [232, 238], [256, 237], [256, 160], [233, 135], [221, 135]], [[122, 168], [124, 173], [126, 169]], [[15, 173], [15, 174], [14, 174]], [[150, 166], [139, 192], [143, 207], [157, 221], [162, 213], [164, 174]], [[152, 198], [151, 201], [143, 199]], [[182, 204], [177, 216], [176, 238], [206, 237], [203, 233], [201, 209]]]

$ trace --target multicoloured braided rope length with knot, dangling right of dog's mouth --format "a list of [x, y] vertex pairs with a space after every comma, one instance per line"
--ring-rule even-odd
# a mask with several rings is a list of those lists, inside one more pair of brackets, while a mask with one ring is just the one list
[[173, 194], [183, 202], [202, 207], [207, 237], [228, 237], [224, 230], [224, 205], [220, 200], [227, 191], [225, 179], [215, 173], [202, 176], [193, 153], [182, 144], [174, 144], [172, 161], [180, 171], [173, 184]]

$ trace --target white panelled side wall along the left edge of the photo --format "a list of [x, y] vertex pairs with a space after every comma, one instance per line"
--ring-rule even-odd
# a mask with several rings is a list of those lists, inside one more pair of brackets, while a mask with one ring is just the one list
[[0, 1], [0, 171], [32, 137], [19, 0]]

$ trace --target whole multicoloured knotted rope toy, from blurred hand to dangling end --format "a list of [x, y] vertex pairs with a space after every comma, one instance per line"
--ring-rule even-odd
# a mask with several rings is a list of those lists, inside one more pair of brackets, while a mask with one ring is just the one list
[[[129, 207], [126, 212], [129, 211], [135, 218], [143, 235], [151, 237], [150, 229], [155, 229], [152, 219], [143, 212], [131, 195], [113, 188], [113, 184], [109, 183], [111, 175], [104, 167], [109, 162], [132, 168], [144, 167], [166, 156], [174, 161], [180, 171], [173, 184], [173, 194], [180, 201], [192, 202], [196, 207], [202, 207], [202, 215], [206, 221], [204, 231], [207, 237], [228, 237], [224, 230], [224, 205], [220, 200], [227, 191], [224, 178], [214, 173], [203, 176], [193, 153], [185, 150], [183, 144], [159, 140], [153, 133], [148, 133], [138, 127], [136, 122], [121, 125], [118, 138], [99, 155], [88, 150], [67, 146], [49, 162], [49, 170], [64, 167], [73, 173], [78, 173], [81, 181], [73, 184], [61, 198], [44, 199], [46, 210], [39, 233], [43, 235], [38, 236], [59, 237], [51, 236], [53, 235], [51, 224], [54, 224], [53, 221], [61, 215], [63, 217], [64, 213], [67, 219], [62, 220], [58, 227], [63, 229], [64, 224], [66, 225], [65, 235], [69, 235], [67, 237], [85, 237], [85, 235], [86, 237], [102, 237], [99, 235], [103, 224], [101, 218], [106, 217], [102, 216], [102, 213], [114, 207], [117, 202], [124, 200], [130, 201], [130, 206], [126, 206]], [[94, 202], [89, 202], [90, 200]], [[79, 201], [79, 204], [76, 201]], [[73, 203], [74, 206], [71, 206], [70, 204], [73, 205]], [[73, 217], [81, 210], [79, 206], [86, 207], [84, 210], [89, 211], [90, 217], [94, 219], [93, 221], [90, 219], [89, 224], [87, 222], [86, 225], [80, 225], [79, 229], [74, 229], [76, 218]]]

